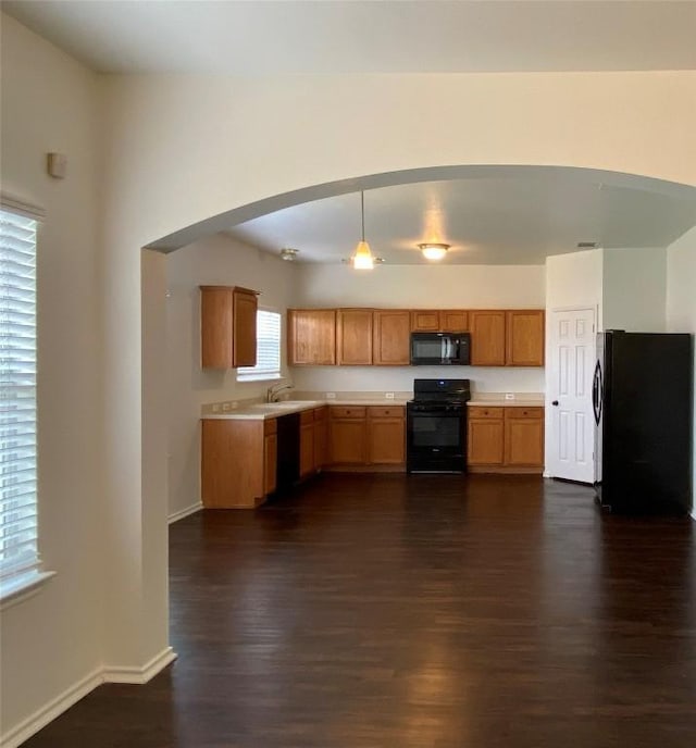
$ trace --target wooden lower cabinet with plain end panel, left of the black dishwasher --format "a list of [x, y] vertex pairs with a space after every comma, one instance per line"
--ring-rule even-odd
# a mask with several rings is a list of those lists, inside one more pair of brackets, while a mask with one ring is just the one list
[[201, 423], [203, 507], [258, 507], [271, 485], [275, 488], [275, 420], [203, 419]]

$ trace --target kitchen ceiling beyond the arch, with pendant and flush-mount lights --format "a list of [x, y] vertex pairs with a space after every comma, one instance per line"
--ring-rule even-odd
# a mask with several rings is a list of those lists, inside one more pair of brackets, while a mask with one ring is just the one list
[[[577, 251], [581, 241], [666, 247], [696, 223], [696, 189], [673, 195], [608, 185], [579, 169], [490, 171], [365, 191], [373, 254], [389, 264], [426, 264], [417, 245], [437, 241], [451, 245], [445, 263], [543, 264], [548, 254]], [[299, 261], [338, 263], [355, 251], [360, 232], [360, 194], [353, 192], [269, 213], [228, 233], [271, 252], [299, 249]]]

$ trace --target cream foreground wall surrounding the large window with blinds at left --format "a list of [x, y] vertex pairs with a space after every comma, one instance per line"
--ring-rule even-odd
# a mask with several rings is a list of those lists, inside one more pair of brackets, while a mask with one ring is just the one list
[[[3, 743], [59, 695], [94, 686], [105, 559], [97, 78], [4, 15], [1, 47], [2, 190], [46, 210], [38, 237], [38, 502], [40, 553], [58, 572], [36, 597], [1, 614]], [[49, 151], [67, 155], [65, 179], [46, 174]]]

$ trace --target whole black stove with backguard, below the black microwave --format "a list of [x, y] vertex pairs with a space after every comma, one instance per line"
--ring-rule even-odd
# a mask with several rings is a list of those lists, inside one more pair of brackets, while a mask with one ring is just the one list
[[467, 470], [469, 379], [414, 379], [406, 406], [408, 473], [463, 473]]

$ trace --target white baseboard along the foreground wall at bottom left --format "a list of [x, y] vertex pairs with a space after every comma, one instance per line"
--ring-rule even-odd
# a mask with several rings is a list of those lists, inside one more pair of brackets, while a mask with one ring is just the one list
[[176, 653], [171, 647], [166, 647], [153, 657], [142, 668], [99, 668], [82, 678], [60, 696], [38, 709], [34, 714], [14, 726], [9, 733], [0, 735], [2, 748], [18, 748], [32, 735], [46, 727], [49, 722], [67, 711], [82, 698], [87, 696], [102, 683], [132, 683], [142, 685], [154, 677], [161, 670], [176, 659]]

